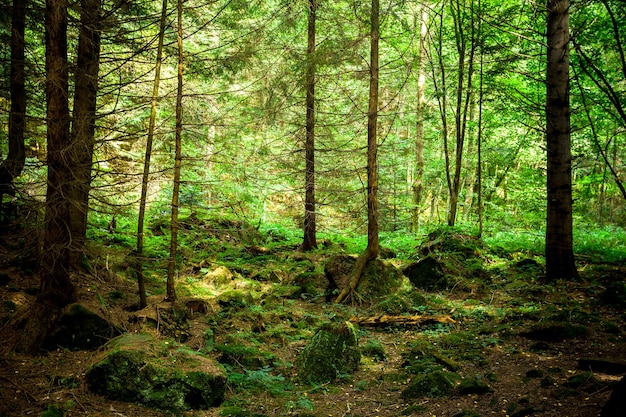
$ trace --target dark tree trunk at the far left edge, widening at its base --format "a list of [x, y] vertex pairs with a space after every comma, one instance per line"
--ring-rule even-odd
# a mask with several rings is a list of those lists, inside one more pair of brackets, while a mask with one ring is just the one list
[[0, 164], [0, 209], [3, 195], [12, 193], [13, 179], [18, 177], [26, 161], [24, 127], [26, 120], [26, 88], [24, 73], [25, 0], [13, 0], [11, 17], [11, 110], [9, 113], [9, 153]]

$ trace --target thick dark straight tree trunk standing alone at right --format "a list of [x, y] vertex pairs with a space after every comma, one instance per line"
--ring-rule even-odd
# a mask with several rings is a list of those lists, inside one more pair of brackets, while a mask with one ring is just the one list
[[546, 278], [578, 276], [573, 251], [569, 97], [569, 0], [547, 1]]

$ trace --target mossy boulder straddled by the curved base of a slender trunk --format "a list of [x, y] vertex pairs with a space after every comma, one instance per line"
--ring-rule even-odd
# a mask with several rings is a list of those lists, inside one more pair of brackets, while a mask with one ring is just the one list
[[[350, 255], [336, 255], [326, 262], [324, 273], [329, 292], [341, 290], [347, 285], [355, 263], [356, 257]], [[404, 279], [402, 273], [392, 264], [373, 259], [365, 266], [357, 291], [364, 301], [378, 301], [381, 297], [398, 291]]]

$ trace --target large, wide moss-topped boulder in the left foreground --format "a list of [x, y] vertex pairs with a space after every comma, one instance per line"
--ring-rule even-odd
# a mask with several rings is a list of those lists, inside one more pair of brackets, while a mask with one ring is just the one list
[[226, 373], [197, 352], [138, 333], [109, 342], [86, 381], [109, 399], [180, 412], [219, 406]]

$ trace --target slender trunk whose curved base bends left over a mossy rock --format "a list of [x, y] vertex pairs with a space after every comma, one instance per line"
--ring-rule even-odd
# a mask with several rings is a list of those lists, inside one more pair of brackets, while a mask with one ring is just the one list
[[370, 38], [370, 94], [367, 111], [367, 248], [357, 259], [348, 284], [337, 296], [340, 303], [356, 293], [367, 263], [378, 256], [378, 44], [380, 40], [379, 0], [372, 0]]

